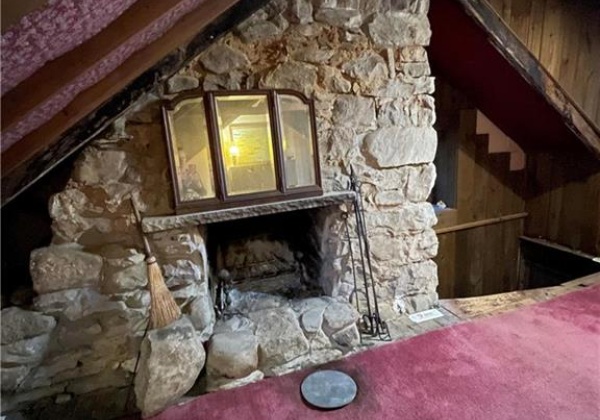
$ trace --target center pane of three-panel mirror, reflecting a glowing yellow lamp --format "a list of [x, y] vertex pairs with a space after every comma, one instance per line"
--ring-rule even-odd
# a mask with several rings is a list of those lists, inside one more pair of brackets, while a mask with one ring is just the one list
[[229, 195], [273, 191], [275, 164], [265, 95], [215, 97]]

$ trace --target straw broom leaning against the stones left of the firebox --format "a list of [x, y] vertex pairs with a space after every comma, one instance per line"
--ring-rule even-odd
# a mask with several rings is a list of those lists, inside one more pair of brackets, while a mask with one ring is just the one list
[[181, 310], [179, 309], [179, 306], [177, 306], [177, 303], [175, 303], [173, 295], [171, 295], [171, 292], [165, 284], [156, 257], [152, 254], [150, 249], [148, 238], [142, 230], [142, 218], [133, 200], [131, 200], [131, 206], [133, 207], [135, 219], [142, 235], [144, 249], [146, 251], [148, 285], [150, 288], [150, 328], [166, 327], [171, 322], [176, 321], [181, 317]]

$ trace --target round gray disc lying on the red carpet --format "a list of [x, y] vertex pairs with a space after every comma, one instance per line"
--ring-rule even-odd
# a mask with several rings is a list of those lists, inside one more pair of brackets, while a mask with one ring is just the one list
[[320, 370], [311, 373], [301, 385], [302, 396], [318, 408], [341, 408], [356, 398], [356, 382], [337, 370]]

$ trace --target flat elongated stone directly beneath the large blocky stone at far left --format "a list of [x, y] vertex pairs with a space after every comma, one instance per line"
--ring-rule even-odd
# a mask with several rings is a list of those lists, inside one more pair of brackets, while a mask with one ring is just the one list
[[35, 299], [34, 306], [41, 312], [64, 316], [70, 321], [95, 313], [127, 309], [125, 303], [110, 301], [91, 288], [46, 293]]

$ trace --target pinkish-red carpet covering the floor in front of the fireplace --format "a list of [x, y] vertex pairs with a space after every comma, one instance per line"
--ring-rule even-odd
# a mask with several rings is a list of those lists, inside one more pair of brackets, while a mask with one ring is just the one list
[[349, 373], [357, 399], [336, 411], [305, 405], [312, 370], [172, 407], [187, 419], [600, 419], [600, 287], [369, 350], [328, 367]]

